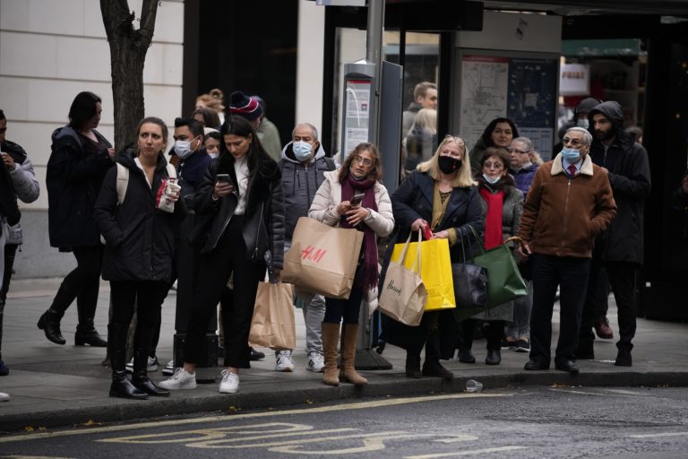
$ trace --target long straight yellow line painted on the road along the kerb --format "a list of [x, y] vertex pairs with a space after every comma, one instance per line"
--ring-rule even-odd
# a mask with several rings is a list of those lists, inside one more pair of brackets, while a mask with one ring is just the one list
[[201, 423], [211, 423], [219, 421], [228, 420], [245, 420], [252, 418], [266, 418], [274, 416], [288, 416], [295, 414], [313, 414], [318, 412], [330, 412], [330, 411], [348, 411], [348, 410], [366, 410], [368, 408], [377, 408], [381, 406], [393, 406], [402, 405], [409, 403], [423, 403], [423, 402], [436, 402], [442, 400], [455, 400], [460, 398], [490, 398], [490, 397], [505, 397], [511, 396], [512, 394], [442, 394], [442, 395], [426, 395], [421, 397], [407, 397], [407, 398], [397, 398], [397, 399], [385, 399], [385, 400], [374, 400], [369, 402], [358, 402], [358, 403], [342, 403], [339, 405], [332, 406], [319, 406], [314, 408], [300, 408], [296, 410], [284, 410], [284, 411], [262, 411], [255, 413], [245, 413], [245, 414], [227, 414], [219, 416], [208, 416], [202, 418], [193, 418], [186, 420], [159, 420], [159, 421], [149, 421], [141, 422], [136, 424], [126, 424], [119, 426], [106, 426], [106, 427], [95, 427], [95, 428], [84, 428], [82, 430], [62, 430], [57, 432], [38, 432], [23, 435], [14, 435], [10, 437], [0, 437], [0, 443], [10, 443], [15, 441], [26, 441], [26, 440], [36, 440], [39, 438], [54, 438], [54, 437], [69, 437], [73, 435], [91, 435], [100, 434], [107, 432], [119, 432], [122, 430], [141, 430], [150, 428], [161, 428], [169, 426], [181, 426], [185, 424], [201, 424]]

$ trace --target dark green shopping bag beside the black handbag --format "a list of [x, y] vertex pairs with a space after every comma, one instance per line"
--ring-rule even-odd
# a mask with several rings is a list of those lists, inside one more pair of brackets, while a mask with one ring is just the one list
[[[470, 230], [478, 240], [476, 230], [472, 227]], [[508, 238], [501, 246], [487, 251], [482, 244], [478, 244], [482, 254], [473, 257], [473, 263], [487, 269], [487, 307], [499, 306], [528, 294], [526, 282], [513, 259], [512, 249], [506, 245], [512, 241], [520, 243], [520, 238]]]

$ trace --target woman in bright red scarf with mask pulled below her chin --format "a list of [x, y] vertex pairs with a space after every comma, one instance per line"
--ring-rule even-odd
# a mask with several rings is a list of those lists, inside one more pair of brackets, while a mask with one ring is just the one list
[[[511, 157], [503, 148], [489, 147], [480, 160], [482, 174], [477, 176], [478, 193], [482, 197], [480, 204], [485, 219], [486, 250], [500, 246], [505, 238], [510, 238], [519, 230], [520, 215], [523, 213], [523, 194], [509, 175]], [[489, 269], [489, 268], [488, 268]], [[501, 347], [506, 322], [513, 320], [513, 302], [492, 307], [484, 313], [462, 322], [463, 333], [459, 345], [459, 361], [475, 363], [471, 352], [473, 344], [474, 321], [486, 322], [487, 365], [499, 365], [502, 361]]]

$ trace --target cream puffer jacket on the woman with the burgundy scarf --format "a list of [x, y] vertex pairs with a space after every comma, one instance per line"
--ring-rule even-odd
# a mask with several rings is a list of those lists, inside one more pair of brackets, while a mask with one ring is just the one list
[[[340, 169], [325, 172], [324, 176], [325, 181], [318, 188], [308, 216], [326, 225], [340, 226], [341, 215], [337, 213], [337, 206], [341, 203]], [[390, 195], [387, 193], [387, 188], [380, 182], [375, 182], [374, 194], [377, 212], [371, 209], [370, 215], [363, 222], [374, 230], [378, 237], [383, 238], [389, 236], [391, 230], [394, 230]]]

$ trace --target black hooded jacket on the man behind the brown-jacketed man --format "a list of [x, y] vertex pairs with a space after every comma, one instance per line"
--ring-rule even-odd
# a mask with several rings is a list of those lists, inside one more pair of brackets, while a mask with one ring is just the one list
[[592, 118], [598, 113], [609, 119], [616, 131], [614, 141], [606, 149], [596, 139], [589, 153], [592, 162], [609, 171], [617, 205], [616, 218], [598, 240], [603, 245], [602, 259], [642, 264], [645, 200], [651, 189], [648, 152], [624, 131], [624, 111], [618, 102], [602, 102], [589, 112], [591, 130]]

